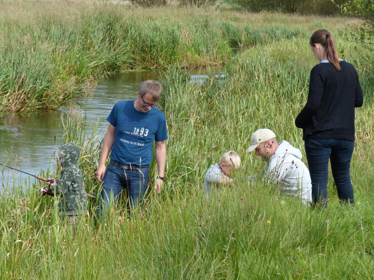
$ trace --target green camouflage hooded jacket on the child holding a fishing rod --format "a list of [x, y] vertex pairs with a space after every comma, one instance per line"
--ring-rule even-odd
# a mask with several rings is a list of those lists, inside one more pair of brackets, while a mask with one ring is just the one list
[[59, 148], [62, 155], [61, 178], [55, 186], [55, 195], [60, 195], [60, 215], [79, 215], [86, 211], [87, 195], [83, 187], [83, 175], [78, 167], [80, 150], [74, 143]]

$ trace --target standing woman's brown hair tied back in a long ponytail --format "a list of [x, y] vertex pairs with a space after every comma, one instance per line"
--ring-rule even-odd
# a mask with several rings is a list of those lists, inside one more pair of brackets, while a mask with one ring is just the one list
[[335, 67], [337, 71], [340, 70], [339, 56], [335, 48], [334, 38], [326, 29], [319, 29], [315, 31], [310, 37], [309, 44], [314, 46], [316, 43], [321, 44], [325, 48], [325, 56], [328, 61]]

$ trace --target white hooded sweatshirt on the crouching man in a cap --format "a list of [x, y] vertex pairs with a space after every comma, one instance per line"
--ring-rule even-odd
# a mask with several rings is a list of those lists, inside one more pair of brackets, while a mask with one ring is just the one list
[[265, 172], [267, 178], [278, 183], [283, 193], [301, 197], [306, 204], [312, 202], [312, 184], [309, 170], [301, 161], [301, 157], [299, 149], [283, 140], [270, 157]]

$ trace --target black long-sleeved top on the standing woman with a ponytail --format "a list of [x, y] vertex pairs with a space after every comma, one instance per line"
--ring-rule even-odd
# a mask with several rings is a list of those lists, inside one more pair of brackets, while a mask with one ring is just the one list
[[352, 64], [340, 61], [340, 71], [320, 63], [310, 71], [307, 103], [295, 119], [303, 140], [355, 140], [355, 107], [364, 102], [358, 74]]

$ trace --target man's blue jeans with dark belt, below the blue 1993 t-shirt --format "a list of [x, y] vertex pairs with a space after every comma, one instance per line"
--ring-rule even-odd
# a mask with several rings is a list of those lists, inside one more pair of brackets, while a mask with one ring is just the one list
[[[145, 191], [149, 183], [149, 167], [123, 169], [118, 163], [110, 162], [104, 175], [104, 183], [101, 190], [101, 198], [105, 207], [109, 207], [110, 199], [118, 203], [121, 198], [122, 190], [127, 193], [128, 210], [138, 204], [141, 204]], [[104, 205], [101, 205], [101, 213]], [[99, 215], [101, 216], [101, 215]]]

